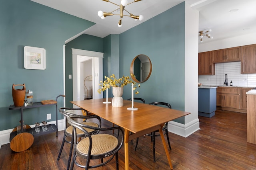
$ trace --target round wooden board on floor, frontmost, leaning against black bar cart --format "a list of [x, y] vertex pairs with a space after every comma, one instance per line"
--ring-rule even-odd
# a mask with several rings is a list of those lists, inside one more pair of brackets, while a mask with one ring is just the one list
[[14, 152], [22, 152], [30, 148], [33, 143], [34, 143], [34, 136], [30, 133], [24, 132], [16, 135], [12, 139], [10, 143], [10, 148]]

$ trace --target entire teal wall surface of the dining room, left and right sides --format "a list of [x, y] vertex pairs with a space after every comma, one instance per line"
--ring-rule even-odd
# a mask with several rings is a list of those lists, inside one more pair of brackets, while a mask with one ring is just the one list
[[[20, 120], [19, 111], [8, 110], [13, 104], [12, 84], [26, 84], [26, 89], [34, 92], [35, 102], [55, 100], [63, 93], [64, 42], [94, 23], [30, 0], [2, 0], [0, 16], [1, 131], [14, 128]], [[103, 76], [130, 75], [130, 63], [134, 57], [147, 55], [152, 62], [152, 74], [141, 83], [136, 97], [144, 98], [146, 103], [168, 102], [172, 108], [184, 110], [184, 32], [185, 3], [182, 2], [120, 35], [108, 35], [102, 39], [84, 34], [70, 41], [65, 47], [67, 106], [72, 107], [69, 103], [72, 100], [72, 79], [68, 79], [68, 74], [72, 74], [71, 48], [75, 48], [104, 52]], [[26, 45], [46, 49], [46, 70], [24, 69]], [[123, 98], [130, 97], [127, 86]], [[61, 106], [62, 102], [63, 99], [59, 98]], [[43, 121], [47, 113], [52, 113], [49, 121], [55, 120], [55, 107], [25, 110], [25, 123], [32, 125]], [[183, 118], [176, 121], [184, 122]]]

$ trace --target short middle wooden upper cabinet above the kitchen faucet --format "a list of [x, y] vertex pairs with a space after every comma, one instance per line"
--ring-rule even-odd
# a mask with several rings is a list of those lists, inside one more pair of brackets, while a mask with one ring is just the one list
[[212, 51], [213, 63], [241, 61], [241, 47]]

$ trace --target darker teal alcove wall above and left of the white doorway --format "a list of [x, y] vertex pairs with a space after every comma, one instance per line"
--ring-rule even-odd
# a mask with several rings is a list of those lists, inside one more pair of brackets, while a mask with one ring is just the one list
[[66, 79], [66, 107], [73, 107], [73, 79], [68, 79], [72, 75], [72, 48], [103, 53], [103, 39], [92, 35], [82, 34], [76, 39], [66, 43], [65, 46], [65, 79]]

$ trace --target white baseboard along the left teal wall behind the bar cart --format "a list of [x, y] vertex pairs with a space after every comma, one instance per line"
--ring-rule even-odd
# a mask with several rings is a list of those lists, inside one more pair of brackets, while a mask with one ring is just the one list
[[[50, 121], [47, 122], [48, 124], [55, 124], [56, 125], [56, 121]], [[58, 120], [58, 131], [63, 131], [65, 128], [65, 120], [61, 119]], [[35, 127], [35, 125], [30, 125], [30, 127]], [[2, 145], [8, 144], [10, 143], [10, 134], [12, 133], [13, 129], [7, 129], [4, 131], [0, 131], [0, 149]]]

